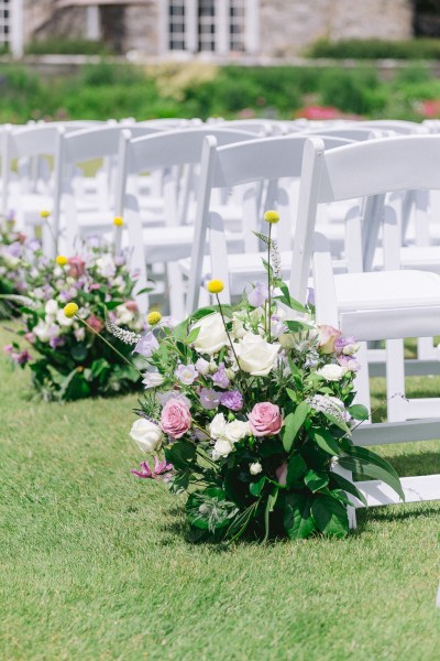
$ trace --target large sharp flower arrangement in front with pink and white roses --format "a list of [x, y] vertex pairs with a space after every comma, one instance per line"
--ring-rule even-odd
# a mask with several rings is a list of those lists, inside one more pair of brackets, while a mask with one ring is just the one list
[[187, 494], [193, 540], [233, 541], [245, 531], [263, 540], [345, 535], [350, 495], [364, 498], [338, 464], [380, 476], [403, 498], [392, 466], [351, 441], [369, 416], [353, 404], [355, 339], [317, 325], [312, 305], [290, 296], [271, 239], [278, 214], [265, 219], [266, 283], [231, 306], [212, 280], [217, 304], [175, 328], [153, 313], [138, 342], [147, 392], [131, 436], [154, 455], [154, 467], [142, 462], [132, 473]]

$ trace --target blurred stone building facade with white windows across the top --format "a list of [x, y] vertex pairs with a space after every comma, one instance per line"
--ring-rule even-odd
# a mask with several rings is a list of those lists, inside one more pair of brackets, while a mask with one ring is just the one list
[[[318, 39], [408, 39], [424, 0], [0, 0], [0, 44], [88, 37], [116, 52], [288, 57]], [[425, 15], [425, 14], [424, 14]], [[432, 25], [429, 15], [425, 23]], [[428, 20], [427, 20], [428, 19]]]

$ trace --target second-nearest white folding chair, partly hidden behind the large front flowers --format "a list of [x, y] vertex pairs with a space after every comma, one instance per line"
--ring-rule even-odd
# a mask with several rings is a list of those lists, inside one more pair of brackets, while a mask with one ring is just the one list
[[[187, 312], [197, 307], [205, 280], [222, 279], [226, 286], [221, 297], [229, 302], [231, 296], [241, 294], [248, 282], [264, 273], [258, 252], [260, 241], [253, 235], [253, 231], [262, 229], [264, 208], [276, 206], [283, 213], [284, 223], [276, 226], [276, 238], [282, 250], [282, 270], [288, 273], [296, 219], [296, 191], [292, 183], [300, 176], [306, 141], [306, 137], [297, 134], [228, 147], [218, 147], [213, 138], [206, 140], [191, 257], [179, 262], [183, 273], [188, 278]], [[324, 143], [330, 149], [350, 141], [327, 138]], [[270, 182], [270, 185], [262, 198], [261, 184], [264, 182]], [[231, 254], [222, 239], [221, 213], [212, 214], [211, 194], [219, 188], [230, 189], [250, 184], [253, 186], [245, 192], [242, 206], [246, 253]], [[206, 257], [208, 230], [210, 256]]]

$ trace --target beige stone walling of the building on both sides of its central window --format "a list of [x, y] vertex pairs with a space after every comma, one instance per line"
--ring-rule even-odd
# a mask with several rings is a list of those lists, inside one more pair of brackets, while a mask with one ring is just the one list
[[[123, 51], [157, 55], [158, 3], [125, 7]], [[55, 10], [54, 0], [24, 0], [25, 41], [86, 36], [84, 7]], [[301, 54], [318, 39], [407, 39], [413, 34], [411, 0], [260, 0], [260, 54]]]

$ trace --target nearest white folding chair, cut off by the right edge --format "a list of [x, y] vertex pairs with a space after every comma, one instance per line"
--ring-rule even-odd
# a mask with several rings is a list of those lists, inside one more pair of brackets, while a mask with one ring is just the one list
[[[440, 188], [440, 136], [405, 136], [366, 141], [324, 151], [323, 142], [309, 139], [305, 148], [298, 208], [298, 225], [293, 252], [290, 292], [304, 302], [310, 260], [314, 263], [315, 300], [318, 323], [337, 326], [344, 335], [361, 342], [386, 339], [387, 389], [402, 386], [404, 337], [435, 335], [440, 327], [440, 277], [416, 270], [389, 270], [345, 273], [333, 277], [330, 252], [314, 229], [317, 205], [352, 197], [382, 195], [393, 191]], [[359, 221], [359, 219], [356, 220]], [[398, 232], [395, 213], [386, 208], [384, 246], [393, 245]], [[391, 261], [393, 260], [393, 256]], [[367, 381], [366, 361], [356, 384]], [[397, 398], [395, 398], [397, 401]], [[433, 415], [440, 400], [404, 400], [398, 408], [399, 422], [362, 425], [354, 434], [360, 445], [422, 441], [438, 435], [440, 418]], [[341, 458], [343, 469], [353, 468]], [[407, 501], [440, 499], [440, 475], [403, 478]], [[396, 502], [381, 480], [356, 483], [370, 505]], [[362, 503], [354, 499], [356, 507]]]

